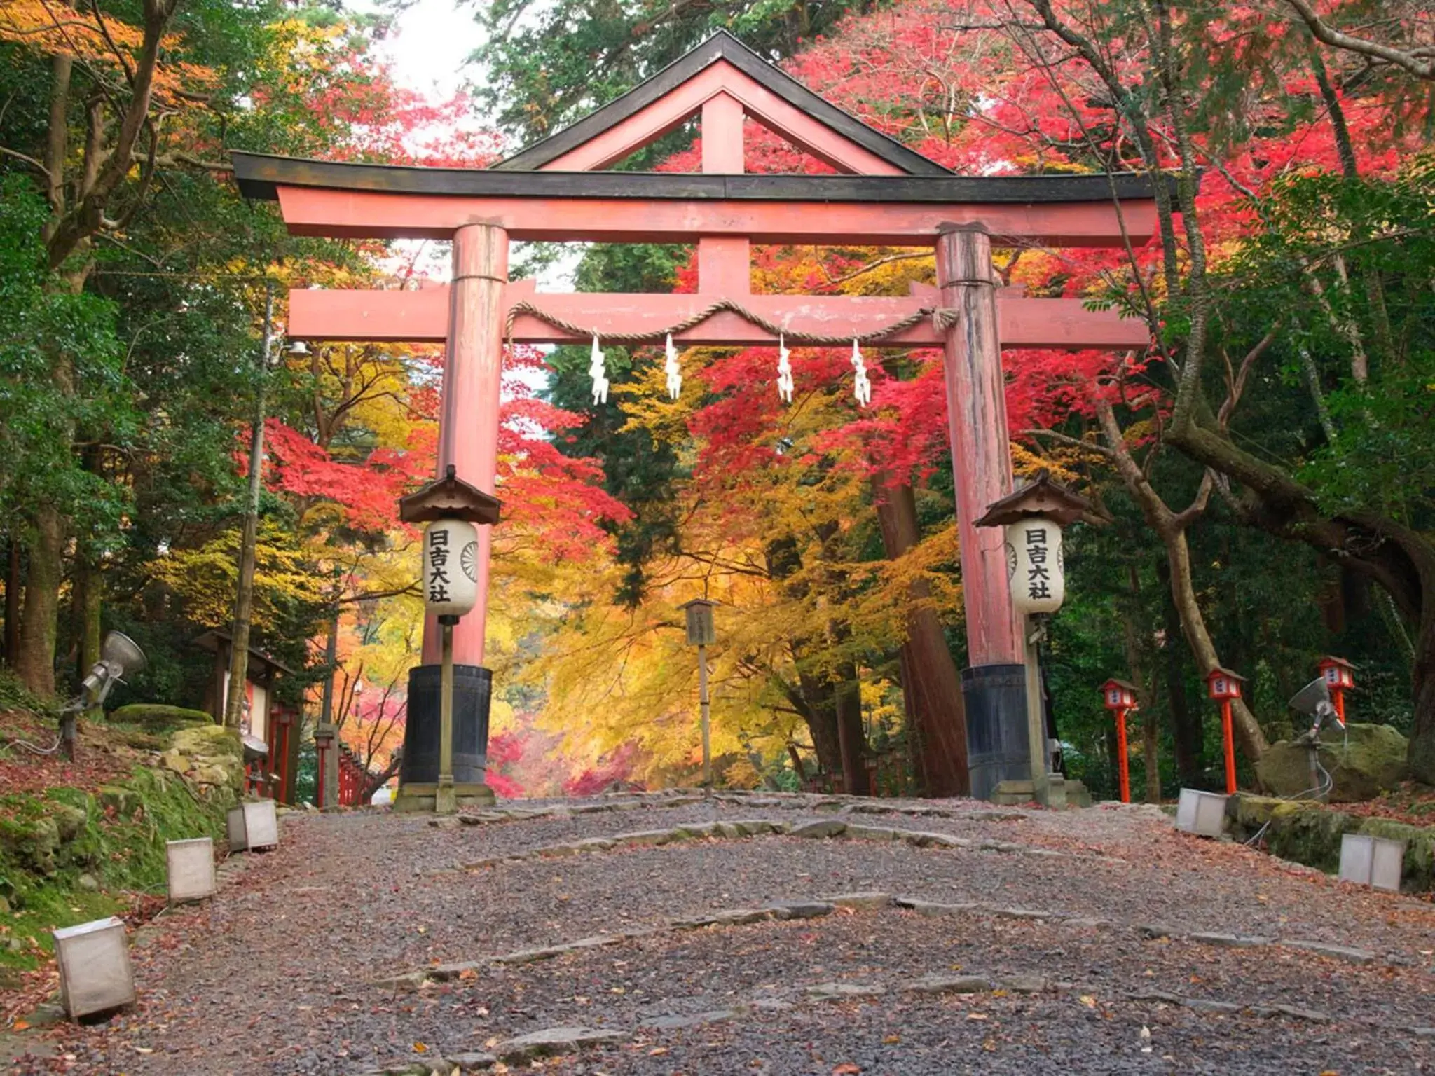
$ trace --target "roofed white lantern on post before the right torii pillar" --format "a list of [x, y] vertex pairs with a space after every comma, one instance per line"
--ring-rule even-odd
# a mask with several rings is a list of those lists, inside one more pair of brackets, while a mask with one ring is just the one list
[[[1039, 646], [1046, 636], [1046, 626], [1036, 617], [1062, 607], [1066, 595], [1062, 528], [1089, 509], [1091, 502], [1086, 498], [1053, 482], [1050, 473], [1040, 471], [1016, 492], [987, 505], [986, 515], [976, 521], [977, 527], [1006, 528], [1012, 605], [1022, 618], [1022, 640], [1026, 647], [1026, 739], [1030, 766], [1025, 778], [1030, 780], [1032, 795], [1043, 803], [1049, 802], [1052, 785], [1060, 778], [1055, 772], [1058, 745], [1055, 740], [1048, 743], [1046, 739], [1046, 709], [1039, 664]], [[1063, 785], [1056, 799], [1065, 802]]]

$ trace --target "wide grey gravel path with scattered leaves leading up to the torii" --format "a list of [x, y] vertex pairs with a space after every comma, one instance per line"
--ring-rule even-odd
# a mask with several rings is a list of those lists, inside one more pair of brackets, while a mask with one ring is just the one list
[[[46, 1044], [63, 1054], [16, 1072], [359, 1076], [481, 1052], [507, 1053], [514, 1070], [531, 1062], [509, 1039], [560, 1026], [614, 1042], [557, 1047], [537, 1062], [545, 1072], [1435, 1072], [1431, 904], [1177, 834], [1149, 808], [600, 803], [524, 803], [558, 813], [443, 825], [380, 811], [287, 816], [277, 851], [251, 856], [211, 902], [141, 933], [135, 1010], [56, 1029]], [[973, 844], [762, 835], [542, 854], [735, 819]], [[525, 858], [471, 867], [511, 855]], [[917, 907], [667, 928], [858, 891]], [[488, 963], [621, 931], [633, 937]], [[1270, 941], [1190, 937], [1201, 931]], [[478, 963], [422, 987], [422, 974], [375, 981], [455, 961]], [[986, 981], [914, 991], [931, 976]]]

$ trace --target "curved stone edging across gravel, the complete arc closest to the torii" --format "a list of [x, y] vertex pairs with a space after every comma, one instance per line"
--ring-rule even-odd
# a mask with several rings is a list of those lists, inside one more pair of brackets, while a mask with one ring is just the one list
[[730, 822], [684, 822], [670, 829], [640, 829], [630, 834], [614, 834], [613, 836], [585, 836], [580, 841], [542, 845], [524, 852], [508, 852], [486, 859], [475, 859], [456, 868], [449, 867], [436, 874], [451, 871], [478, 871], [486, 867], [497, 867], [505, 862], [522, 859], [540, 859], [545, 856], [580, 855], [583, 852], [608, 852], [614, 848], [656, 848], [659, 845], [679, 844], [682, 841], [702, 839], [735, 839], [749, 836], [799, 836], [799, 838], [845, 838], [857, 841], [904, 841], [914, 848], [973, 848], [983, 852], [1016, 852], [1019, 855], [1035, 855], [1049, 859], [1085, 859], [1108, 864], [1128, 865], [1126, 859], [1109, 855], [1088, 855], [1082, 852], [1060, 852], [1055, 848], [1038, 848], [1035, 845], [1015, 844], [1012, 841], [971, 839], [953, 836], [951, 834], [933, 834], [920, 829], [897, 829], [891, 826], [868, 826], [857, 822], [842, 822], [837, 818], [824, 818], [805, 825], [789, 826], [786, 822], [773, 822], [766, 818], [743, 818]]

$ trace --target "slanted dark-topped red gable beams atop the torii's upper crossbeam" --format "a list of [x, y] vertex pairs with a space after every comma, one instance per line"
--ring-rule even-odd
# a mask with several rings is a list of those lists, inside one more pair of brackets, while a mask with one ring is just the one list
[[725, 95], [781, 138], [855, 175], [951, 175], [824, 100], [726, 30], [571, 126], [492, 165], [497, 171], [587, 172], [650, 145]]

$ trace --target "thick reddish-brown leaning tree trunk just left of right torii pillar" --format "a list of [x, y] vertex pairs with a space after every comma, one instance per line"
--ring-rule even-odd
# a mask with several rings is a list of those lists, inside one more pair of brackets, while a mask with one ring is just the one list
[[[910, 485], [878, 483], [875, 501], [883, 547], [888, 558], [897, 560], [921, 538], [916, 496]], [[918, 775], [930, 796], [966, 796], [971, 791], [967, 713], [957, 663], [947, 648], [936, 610], [927, 604], [930, 587], [917, 581], [908, 594], [913, 608], [907, 614], [907, 638], [901, 647], [901, 687], [908, 730], [917, 733]]]

